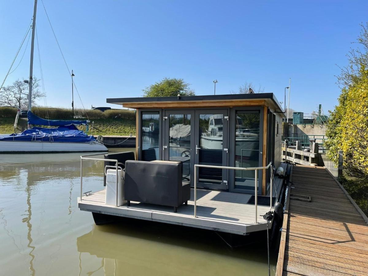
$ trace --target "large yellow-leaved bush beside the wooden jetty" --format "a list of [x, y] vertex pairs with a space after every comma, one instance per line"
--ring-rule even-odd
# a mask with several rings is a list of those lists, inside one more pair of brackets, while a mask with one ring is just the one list
[[344, 172], [368, 177], [368, 70], [364, 65], [358, 78], [343, 88], [339, 105], [327, 124], [327, 154], [337, 164], [338, 151], [344, 152]]

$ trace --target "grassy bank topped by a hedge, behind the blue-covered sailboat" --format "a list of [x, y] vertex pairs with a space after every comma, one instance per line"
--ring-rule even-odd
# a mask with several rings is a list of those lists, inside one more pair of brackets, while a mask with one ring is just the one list
[[[73, 120], [72, 110], [64, 108], [33, 107], [32, 112], [50, 120]], [[0, 107], [0, 134], [13, 133], [16, 109]], [[132, 110], [81, 110], [74, 109], [74, 120], [89, 120], [90, 135], [135, 135], [135, 111]], [[85, 131], [85, 126], [78, 127]]]

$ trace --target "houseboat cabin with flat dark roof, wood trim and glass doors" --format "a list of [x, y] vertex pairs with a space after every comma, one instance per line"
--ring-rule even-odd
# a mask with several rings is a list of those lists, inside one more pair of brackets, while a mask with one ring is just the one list
[[[194, 164], [280, 165], [283, 110], [273, 93], [107, 99], [137, 110], [137, 160], [180, 161], [194, 186]], [[254, 194], [254, 171], [199, 168], [197, 187]], [[267, 195], [266, 170], [258, 194]]]

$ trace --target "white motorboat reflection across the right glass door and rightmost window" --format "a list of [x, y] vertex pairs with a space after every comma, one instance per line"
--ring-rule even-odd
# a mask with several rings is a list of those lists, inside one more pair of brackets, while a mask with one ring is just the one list
[[[241, 121], [241, 120], [239, 120]], [[208, 130], [201, 134], [201, 148], [222, 150], [223, 118], [221, 114], [209, 117]], [[238, 125], [235, 133], [236, 156], [249, 157], [259, 148], [259, 134]]]

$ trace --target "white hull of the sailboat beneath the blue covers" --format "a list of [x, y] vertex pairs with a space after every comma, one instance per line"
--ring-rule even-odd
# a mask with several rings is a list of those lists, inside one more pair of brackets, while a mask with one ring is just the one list
[[99, 142], [39, 142], [39, 141], [0, 141], [0, 153], [11, 152], [93, 152], [108, 151]]

